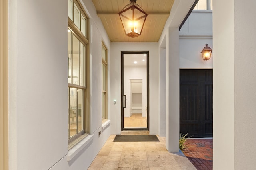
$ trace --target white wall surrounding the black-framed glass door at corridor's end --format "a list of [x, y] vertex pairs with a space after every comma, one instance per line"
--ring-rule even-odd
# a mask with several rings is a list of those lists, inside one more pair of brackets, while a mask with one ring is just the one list
[[159, 129], [159, 50], [158, 43], [111, 43], [110, 51], [110, 104], [111, 133], [121, 133], [121, 51], [149, 51], [150, 134]]

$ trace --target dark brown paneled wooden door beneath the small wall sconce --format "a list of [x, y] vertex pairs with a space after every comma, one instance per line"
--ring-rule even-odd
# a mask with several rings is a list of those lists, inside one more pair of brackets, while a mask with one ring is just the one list
[[212, 70], [180, 70], [180, 132], [212, 137]]

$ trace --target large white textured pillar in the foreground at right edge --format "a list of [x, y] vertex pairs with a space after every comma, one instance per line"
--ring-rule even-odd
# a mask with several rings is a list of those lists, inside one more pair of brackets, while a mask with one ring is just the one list
[[254, 0], [213, 1], [213, 45], [218, 56], [213, 63], [216, 170], [256, 167], [255, 6]]

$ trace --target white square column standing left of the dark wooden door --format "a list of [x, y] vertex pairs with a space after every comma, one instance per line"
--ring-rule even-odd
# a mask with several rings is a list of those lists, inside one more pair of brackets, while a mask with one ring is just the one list
[[169, 28], [166, 36], [166, 148], [179, 152], [180, 67], [179, 28]]

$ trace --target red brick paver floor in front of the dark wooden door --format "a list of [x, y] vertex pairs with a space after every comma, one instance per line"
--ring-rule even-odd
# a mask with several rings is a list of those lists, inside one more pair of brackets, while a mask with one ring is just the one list
[[184, 155], [198, 170], [212, 170], [212, 139], [187, 139]]

